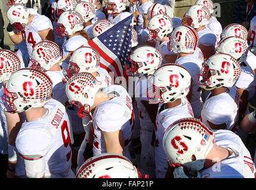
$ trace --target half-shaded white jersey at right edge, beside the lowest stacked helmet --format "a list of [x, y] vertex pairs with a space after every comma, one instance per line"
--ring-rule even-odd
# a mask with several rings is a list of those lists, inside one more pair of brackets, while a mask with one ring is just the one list
[[247, 62], [241, 64], [241, 69], [242, 72], [236, 81], [236, 87], [248, 91], [248, 100], [250, 100], [254, 96], [256, 87], [254, 72]]

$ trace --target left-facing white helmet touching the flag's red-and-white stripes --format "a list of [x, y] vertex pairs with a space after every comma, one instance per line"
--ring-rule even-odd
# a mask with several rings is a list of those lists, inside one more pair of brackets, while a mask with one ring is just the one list
[[67, 74], [72, 77], [79, 72], [96, 72], [100, 68], [100, 54], [92, 47], [79, 47], [69, 59]]

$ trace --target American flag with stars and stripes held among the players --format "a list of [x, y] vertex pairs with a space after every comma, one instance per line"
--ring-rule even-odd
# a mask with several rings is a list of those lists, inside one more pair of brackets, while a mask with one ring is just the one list
[[[88, 44], [100, 53], [100, 66], [114, 77], [125, 77], [125, 63], [129, 62], [132, 40], [133, 15], [115, 24], [109, 30], [90, 40]], [[113, 80], [112, 78], [112, 81]]]

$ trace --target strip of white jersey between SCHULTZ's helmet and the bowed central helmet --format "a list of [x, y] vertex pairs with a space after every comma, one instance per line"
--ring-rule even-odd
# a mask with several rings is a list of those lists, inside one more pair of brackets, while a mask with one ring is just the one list
[[53, 99], [58, 100], [58, 102], [65, 106], [68, 98], [66, 95], [66, 83], [63, 83], [65, 79], [63, 70], [46, 71], [46, 74], [51, 78], [51, 81], [53, 81]]

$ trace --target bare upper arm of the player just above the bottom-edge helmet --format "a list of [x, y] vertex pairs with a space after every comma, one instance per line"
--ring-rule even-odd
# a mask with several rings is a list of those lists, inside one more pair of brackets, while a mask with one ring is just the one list
[[107, 153], [124, 154], [124, 134], [121, 130], [103, 132]]

